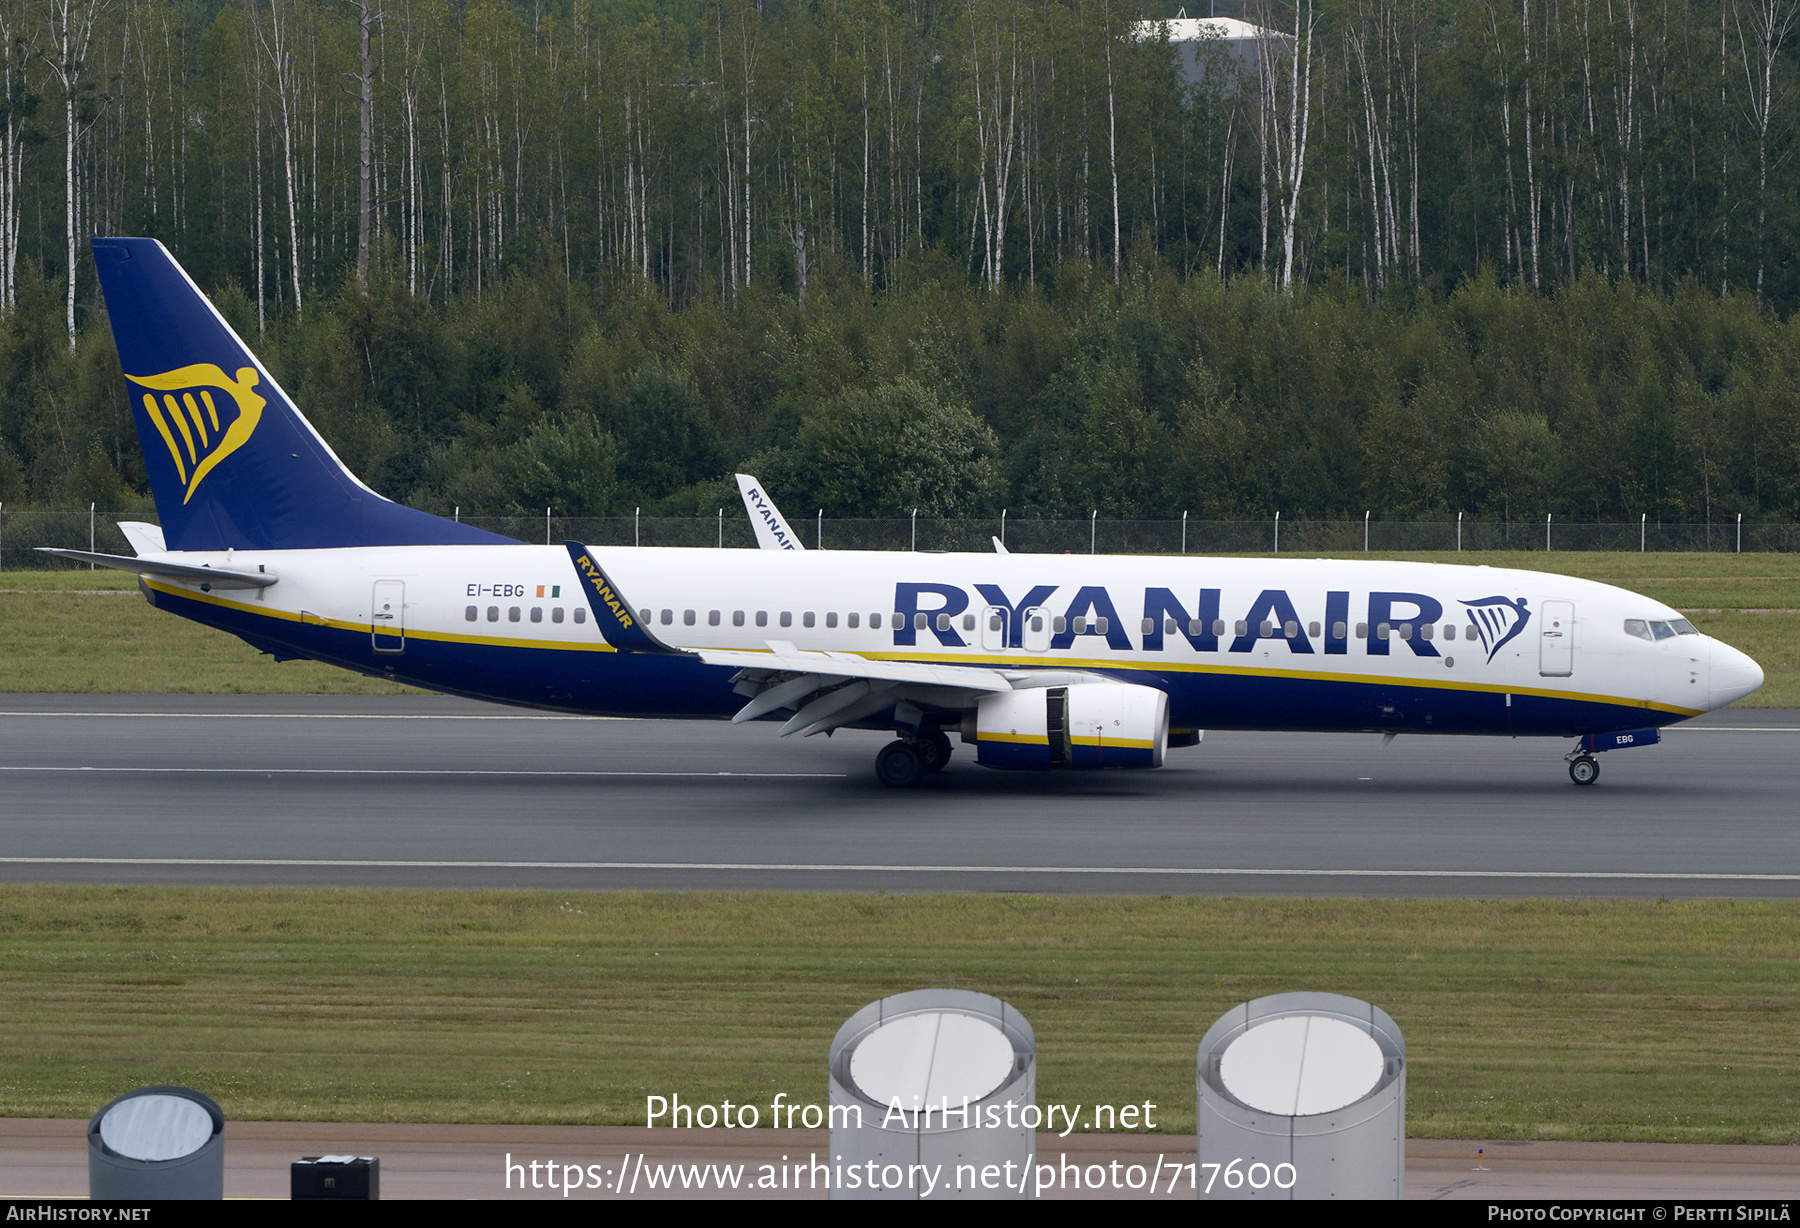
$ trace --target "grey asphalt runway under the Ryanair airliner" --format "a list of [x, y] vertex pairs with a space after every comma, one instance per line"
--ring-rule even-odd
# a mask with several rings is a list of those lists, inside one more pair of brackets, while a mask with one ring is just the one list
[[1570, 783], [1561, 740], [1211, 733], [1154, 772], [914, 790], [880, 735], [436, 697], [0, 695], [0, 879], [184, 884], [1795, 897], [1800, 711]]

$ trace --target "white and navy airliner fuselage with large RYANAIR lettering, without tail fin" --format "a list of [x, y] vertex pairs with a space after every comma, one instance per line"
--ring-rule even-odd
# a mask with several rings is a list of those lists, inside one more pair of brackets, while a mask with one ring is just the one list
[[[592, 556], [677, 648], [792, 645], [1094, 672], [1166, 690], [1179, 727], [1570, 733], [1669, 724], [1762, 682], [1750, 657], [1660, 601], [1535, 571], [873, 551]], [[164, 558], [279, 576], [261, 591], [146, 589], [160, 607], [281, 655], [572, 711], [729, 717], [742, 704], [731, 670], [607, 661], [632, 654], [603, 639], [562, 546]]]

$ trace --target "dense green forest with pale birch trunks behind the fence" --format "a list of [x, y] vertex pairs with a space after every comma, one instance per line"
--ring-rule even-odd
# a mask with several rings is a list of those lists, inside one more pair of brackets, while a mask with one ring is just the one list
[[1800, 513], [1800, 0], [1192, 14], [0, 0], [0, 499], [142, 502], [148, 234], [443, 511]]

